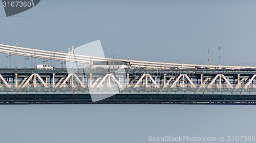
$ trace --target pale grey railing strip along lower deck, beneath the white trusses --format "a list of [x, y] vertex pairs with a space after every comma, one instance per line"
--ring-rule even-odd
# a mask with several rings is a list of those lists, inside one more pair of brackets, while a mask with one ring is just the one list
[[172, 92], [172, 93], [177, 93], [177, 92], [184, 92], [184, 93], [251, 93], [251, 92], [256, 92], [255, 88], [238, 88], [238, 89], [230, 89], [230, 88], [125, 88], [123, 90], [120, 90], [119, 88], [1, 88], [0, 89], [0, 94], [5, 94], [5, 93], [20, 93], [20, 92], [25, 92], [25, 93], [37, 93], [37, 92], [45, 92], [45, 94], [50, 94], [52, 93], [58, 93], [58, 92], [82, 92], [79, 94], [90, 94], [94, 92], [101, 92], [102, 94], [107, 94], [111, 92], [118, 92], [118, 93], [141, 93], [141, 94], [159, 94], [160, 92], [163, 94]]

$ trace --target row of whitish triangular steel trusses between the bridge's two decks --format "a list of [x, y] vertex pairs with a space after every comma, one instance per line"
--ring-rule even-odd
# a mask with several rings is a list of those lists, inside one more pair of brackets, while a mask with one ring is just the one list
[[[8, 69], [3, 69], [8, 70]], [[20, 71], [25, 69], [20, 69]], [[215, 70], [126, 70], [123, 73], [109, 73], [108, 70], [74, 71], [67, 69], [42, 70], [30, 69], [31, 73], [0, 73], [0, 88], [255, 88], [256, 72]], [[97, 72], [98, 71], [98, 72]], [[37, 73], [36, 73], [37, 72]], [[94, 73], [96, 72], [96, 73]], [[205, 72], [205, 74], [204, 74]], [[222, 72], [222, 73], [221, 73]], [[125, 75], [125, 76], [124, 76]]]

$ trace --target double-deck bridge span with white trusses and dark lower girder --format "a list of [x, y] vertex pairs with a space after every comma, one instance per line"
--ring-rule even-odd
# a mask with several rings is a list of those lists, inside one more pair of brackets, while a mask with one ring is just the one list
[[[0, 69], [0, 104], [255, 104], [255, 70]], [[108, 97], [92, 102], [92, 97]]]

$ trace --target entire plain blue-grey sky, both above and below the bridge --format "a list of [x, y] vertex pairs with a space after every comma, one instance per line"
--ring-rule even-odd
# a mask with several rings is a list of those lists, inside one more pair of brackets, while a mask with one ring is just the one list
[[[115, 57], [256, 65], [256, 1], [50, 1], [6, 17], [0, 43], [45, 50], [101, 40]], [[110, 55], [108, 55], [110, 56]], [[112, 56], [112, 55], [111, 55]], [[24, 58], [18, 65], [24, 65]], [[0, 67], [6, 66], [0, 53]], [[193, 62], [194, 61], [194, 62]], [[41, 60], [37, 60], [38, 63]], [[0, 142], [149, 142], [148, 136], [255, 135], [248, 105], [1, 105]]]

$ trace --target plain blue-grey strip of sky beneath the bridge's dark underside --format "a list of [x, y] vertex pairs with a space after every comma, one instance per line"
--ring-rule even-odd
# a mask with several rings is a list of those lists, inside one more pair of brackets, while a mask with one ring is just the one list
[[255, 136], [256, 127], [254, 105], [1, 105], [0, 109], [0, 142], [5, 143], [141, 143], [159, 142], [148, 141], [148, 136], [165, 135], [219, 139]]

